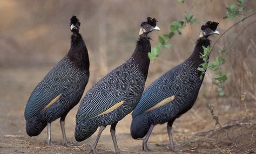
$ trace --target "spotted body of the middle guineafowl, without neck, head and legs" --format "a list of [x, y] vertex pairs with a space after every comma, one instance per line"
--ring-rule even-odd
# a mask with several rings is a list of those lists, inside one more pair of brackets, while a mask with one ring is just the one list
[[[131, 113], [142, 96], [145, 81], [146, 76], [140, 71], [139, 62], [133, 57], [98, 81], [87, 92], [79, 106], [76, 116], [76, 140], [83, 141], [90, 137], [97, 127], [116, 123]], [[111, 108], [113, 103], [121, 101], [124, 103], [119, 108], [97, 116], [106, 108]], [[78, 129], [78, 127], [82, 128]], [[78, 130], [83, 132], [78, 132]], [[86, 134], [87, 132], [91, 133]]]

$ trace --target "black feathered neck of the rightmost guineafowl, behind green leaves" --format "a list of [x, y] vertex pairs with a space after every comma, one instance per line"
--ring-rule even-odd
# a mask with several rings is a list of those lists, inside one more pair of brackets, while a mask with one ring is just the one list
[[[204, 53], [203, 46], [207, 47], [211, 45], [211, 40], [207, 39], [207, 37], [201, 37], [197, 40], [197, 44], [194, 47], [194, 52], [190, 55], [190, 57], [187, 59], [188, 61], [191, 61], [194, 64], [194, 67], [197, 69], [201, 64], [203, 64], [203, 59], [200, 58], [200, 53]], [[198, 71], [198, 70], [197, 70]], [[201, 72], [198, 71], [198, 74], [200, 75]]]

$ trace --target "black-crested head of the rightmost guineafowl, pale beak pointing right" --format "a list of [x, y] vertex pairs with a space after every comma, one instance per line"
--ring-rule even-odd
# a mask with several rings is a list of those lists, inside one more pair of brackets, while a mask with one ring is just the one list
[[212, 34], [220, 34], [219, 31], [216, 30], [218, 25], [219, 25], [219, 23], [217, 23], [217, 22], [208, 21], [203, 26], [201, 26], [201, 32], [200, 32], [199, 37], [207, 38], [208, 36], [211, 36]]

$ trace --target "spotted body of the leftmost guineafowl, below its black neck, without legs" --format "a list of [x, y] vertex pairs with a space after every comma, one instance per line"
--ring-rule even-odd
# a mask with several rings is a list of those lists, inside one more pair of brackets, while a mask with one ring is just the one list
[[[35, 129], [41, 127], [36, 121], [46, 126], [47, 122], [68, 114], [82, 97], [88, 79], [89, 71], [77, 68], [68, 55], [65, 55], [39, 82], [28, 100], [25, 109], [28, 135], [37, 136], [43, 130]], [[60, 95], [59, 99], [49, 108], [44, 109], [58, 95]]]

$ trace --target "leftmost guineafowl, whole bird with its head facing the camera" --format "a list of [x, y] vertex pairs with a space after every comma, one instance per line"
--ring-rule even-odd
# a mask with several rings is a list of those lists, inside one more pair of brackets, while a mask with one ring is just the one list
[[80, 22], [70, 19], [71, 45], [68, 54], [46, 74], [29, 97], [25, 109], [26, 133], [37, 136], [48, 125], [48, 144], [51, 143], [51, 122], [60, 117], [64, 145], [65, 117], [81, 99], [89, 79], [89, 57], [79, 33]]

